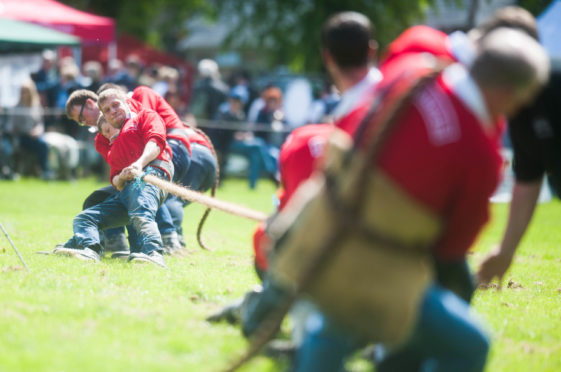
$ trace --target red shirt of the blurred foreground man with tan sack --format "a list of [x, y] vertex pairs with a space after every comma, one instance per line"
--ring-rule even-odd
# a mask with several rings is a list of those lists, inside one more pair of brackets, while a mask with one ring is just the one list
[[[337, 125], [353, 134], [367, 109]], [[463, 258], [489, 217], [501, 166], [499, 135], [486, 132], [440, 77], [414, 97], [384, 144], [376, 165], [444, 220], [434, 247], [439, 258]]]

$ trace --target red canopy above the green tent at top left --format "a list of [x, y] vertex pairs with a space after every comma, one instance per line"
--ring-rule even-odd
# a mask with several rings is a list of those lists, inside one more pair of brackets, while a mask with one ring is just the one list
[[82, 44], [115, 41], [115, 21], [61, 4], [54, 0], [0, 0], [0, 17], [31, 22], [72, 34]]

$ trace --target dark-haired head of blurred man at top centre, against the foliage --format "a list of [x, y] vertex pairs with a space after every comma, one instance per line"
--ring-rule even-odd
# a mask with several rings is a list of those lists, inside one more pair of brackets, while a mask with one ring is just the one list
[[331, 16], [321, 33], [322, 47], [342, 69], [368, 64], [369, 43], [373, 37], [374, 26], [366, 16], [357, 12]]

